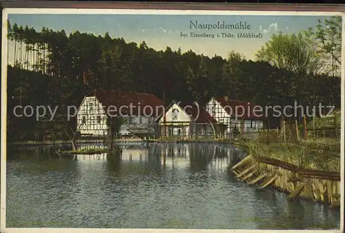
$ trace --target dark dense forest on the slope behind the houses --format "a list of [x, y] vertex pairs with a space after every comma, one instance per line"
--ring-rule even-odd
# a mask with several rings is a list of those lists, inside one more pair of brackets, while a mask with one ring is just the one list
[[[8, 39], [14, 43], [14, 50], [9, 51], [13, 61], [8, 61], [14, 64], [8, 66], [9, 140], [65, 137], [59, 127], [63, 120], [16, 118], [15, 105], [58, 105], [59, 114], [63, 114], [66, 109], [61, 106], [79, 105], [94, 88], [148, 92], [167, 104], [172, 100], [203, 104], [213, 96], [228, 96], [259, 105], [298, 101], [303, 105], [321, 102], [339, 107], [340, 78], [335, 72], [339, 57], [330, 46], [322, 47], [322, 40], [328, 44], [331, 34], [324, 31], [322, 23], [315, 32], [309, 30], [307, 39], [274, 35], [257, 53], [257, 61], [247, 61], [234, 51], [227, 59], [169, 47], [157, 51], [144, 41], [138, 45], [111, 38], [108, 32], [104, 36], [78, 31], [67, 35], [63, 30], [42, 28], [39, 32], [8, 22]], [[311, 52], [315, 49], [310, 45], [311, 37], [320, 41], [320, 50], [315, 54]], [[278, 54], [280, 57], [279, 46], [287, 48]], [[299, 67], [289, 62], [295, 61], [291, 52], [306, 54], [299, 57]], [[326, 55], [332, 58], [332, 69], [327, 72], [319, 67]], [[274, 61], [277, 57], [279, 60]]]

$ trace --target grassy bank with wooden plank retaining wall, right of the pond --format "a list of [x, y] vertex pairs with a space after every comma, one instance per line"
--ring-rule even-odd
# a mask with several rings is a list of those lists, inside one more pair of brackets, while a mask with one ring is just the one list
[[270, 187], [331, 208], [340, 204], [340, 142], [315, 139], [299, 143], [240, 143], [248, 151], [245, 159], [231, 170], [240, 181]]

